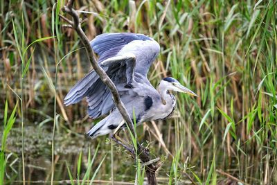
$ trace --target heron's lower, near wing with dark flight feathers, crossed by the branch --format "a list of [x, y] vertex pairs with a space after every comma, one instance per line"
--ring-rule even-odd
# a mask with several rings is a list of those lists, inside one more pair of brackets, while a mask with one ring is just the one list
[[[108, 58], [100, 64], [115, 85], [129, 85], [133, 80], [135, 65], [136, 57], [132, 53]], [[88, 114], [92, 118], [107, 114], [114, 108], [111, 92], [94, 70], [74, 85], [64, 98], [64, 104], [78, 103], [84, 97], [87, 97]]]

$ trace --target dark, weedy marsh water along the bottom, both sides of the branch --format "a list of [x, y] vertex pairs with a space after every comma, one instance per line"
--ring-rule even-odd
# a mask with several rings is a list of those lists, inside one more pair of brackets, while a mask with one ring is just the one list
[[[26, 126], [24, 130], [24, 142], [26, 181], [28, 184], [50, 184], [52, 144], [51, 129], [45, 126], [39, 127], [37, 125]], [[115, 182], [118, 182], [118, 184], [123, 184], [123, 182], [133, 184], [134, 177], [136, 176], [134, 159], [132, 159], [132, 157], [122, 148], [113, 145], [114, 164], [111, 164], [111, 143], [107, 137], [103, 136], [98, 140], [91, 141], [84, 134], [60, 134], [60, 132], [57, 131], [55, 132], [55, 184], [70, 184], [66, 164], [68, 164], [71, 170], [73, 179], [77, 179], [78, 158], [80, 156], [80, 152], [82, 152], [80, 172], [80, 179], [82, 179], [88, 166], [89, 148], [91, 149], [91, 157], [93, 157], [98, 143], [100, 143], [100, 147], [91, 168], [91, 174], [93, 174], [96, 170], [103, 157], [105, 157], [105, 155], [107, 156], [104, 163], [100, 167], [98, 175], [96, 176], [96, 179], [98, 180], [97, 182], [100, 184], [110, 184], [112, 168]], [[14, 128], [12, 129], [12, 132], [10, 132], [7, 140], [7, 148], [9, 155], [8, 166], [6, 168], [6, 184], [21, 184], [21, 130], [19, 128]], [[206, 154], [209, 155], [208, 152]], [[212, 160], [213, 157], [210, 156], [208, 158], [211, 158]], [[190, 159], [190, 163], [197, 165], [190, 166], [189, 168], [193, 170], [195, 174], [199, 175], [199, 177], [202, 177], [202, 174], [207, 174], [208, 172], [201, 172], [201, 164], [199, 162], [200, 159], [200, 155], [193, 155]], [[220, 161], [221, 159], [224, 159], [224, 157], [219, 156], [216, 159], [217, 165], [222, 164], [220, 168], [224, 169], [224, 171], [229, 174], [239, 175], [235, 159], [232, 159], [231, 164], [229, 165], [226, 165], [226, 161]], [[162, 156], [161, 161], [162, 166], [157, 173], [158, 181], [160, 184], [168, 184], [172, 159], [170, 159], [170, 157]], [[209, 163], [211, 164], [211, 161], [209, 161]], [[179, 168], [181, 169], [188, 164], [179, 162], [179, 165]], [[178, 172], [180, 178], [177, 182], [179, 182], [179, 184], [191, 184], [190, 178], [193, 176], [191, 176], [192, 173], [188, 172], [190, 172], [190, 170], [180, 170]], [[220, 173], [222, 172], [217, 172], [217, 174]], [[221, 178], [217, 178], [217, 182], [220, 184], [235, 183], [235, 181], [230, 178], [227, 179], [224, 175]], [[258, 182], [258, 180], [254, 180], [254, 182]]]

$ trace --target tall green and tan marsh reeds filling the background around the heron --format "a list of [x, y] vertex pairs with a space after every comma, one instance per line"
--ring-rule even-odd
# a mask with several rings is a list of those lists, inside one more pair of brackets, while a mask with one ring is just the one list
[[[134, 182], [134, 159], [123, 148], [106, 136], [84, 137], [93, 125], [86, 101], [63, 105], [66, 92], [91, 69], [78, 35], [58, 16], [64, 3], [0, 0], [0, 120], [16, 118], [11, 129], [0, 127], [1, 139], [8, 136], [0, 142], [1, 178], [48, 184], [53, 159], [56, 183], [75, 183], [85, 174], [91, 179], [98, 170], [97, 182]], [[152, 85], [173, 76], [199, 95], [178, 94], [172, 118], [138, 127], [139, 141], [162, 157], [161, 184], [277, 184], [276, 1], [92, 0], [74, 6], [85, 11], [80, 17], [89, 39], [109, 32], [153, 37], [161, 54], [148, 74]]]

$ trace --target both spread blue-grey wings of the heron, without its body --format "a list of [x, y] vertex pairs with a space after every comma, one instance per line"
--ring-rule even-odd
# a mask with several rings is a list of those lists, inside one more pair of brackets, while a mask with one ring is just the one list
[[[154, 39], [136, 33], [105, 33], [91, 41], [91, 47], [99, 55], [98, 62], [123, 96], [124, 87], [132, 87], [132, 79], [149, 82], [147, 73], [160, 51]], [[136, 64], [135, 64], [136, 63]], [[97, 118], [107, 114], [115, 105], [109, 89], [91, 71], [80, 80], [64, 98], [65, 105], [78, 103], [87, 97], [89, 116]]]

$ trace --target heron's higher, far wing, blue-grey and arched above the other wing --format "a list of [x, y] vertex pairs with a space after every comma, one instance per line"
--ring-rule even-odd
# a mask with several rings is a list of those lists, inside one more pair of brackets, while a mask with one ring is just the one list
[[160, 51], [154, 39], [137, 33], [104, 33], [91, 41], [91, 47], [99, 55], [100, 63], [117, 55], [134, 54], [135, 71], [145, 77]]

